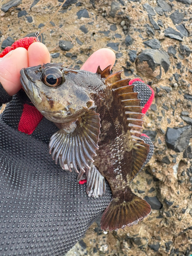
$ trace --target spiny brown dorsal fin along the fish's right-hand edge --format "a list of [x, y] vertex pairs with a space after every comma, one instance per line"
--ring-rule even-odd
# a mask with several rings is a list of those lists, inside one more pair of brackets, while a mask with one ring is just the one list
[[[102, 74], [105, 70], [99, 70], [100, 74]], [[133, 144], [131, 154], [133, 161], [130, 166], [130, 180], [132, 180], [139, 173], [143, 163], [146, 161], [150, 146], [141, 139], [144, 114], [142, 113], [143, 106], [141, 106], [141, 98], [138, 98], [138, 92], [137, 90], [134, 90], [137, 83], [130, 84], [131, 79], [121, 80], [119, 75], [120, 74], [117, 72], [105, 77], [103, 80], [114, 93], [115, 99], [119, 101], [124, 120], [126, 121], [127, 127], [131, 134]], [[114, 82], [110, 84], [112, 81]], [[143, 84], [143, 91], [146, 90], [144, 86], [147, 87], [145, 84]]]

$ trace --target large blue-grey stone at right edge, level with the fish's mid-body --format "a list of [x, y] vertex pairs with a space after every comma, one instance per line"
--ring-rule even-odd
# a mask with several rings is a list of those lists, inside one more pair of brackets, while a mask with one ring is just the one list
[[187, 147], [191, 135], [192, 132], [190, 125], [179, 128], [167, 127], [165, 135], [167, 147], [171, 148], [175, 152], [182, 152]]

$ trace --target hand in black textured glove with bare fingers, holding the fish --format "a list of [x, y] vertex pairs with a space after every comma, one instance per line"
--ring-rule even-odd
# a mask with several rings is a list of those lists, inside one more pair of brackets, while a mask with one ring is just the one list
[[[15, 94], [21, 88], [20, 69], [44, 62], [50, 62], [49, 52], [37, 42], [28, 51], [18, 48], [0, 59], [0, 81], [4, 89], [10, 95]], [[98, 66], [103, 70], [114, 62], [115, 54], [111, 50], [100, 49], [81, 69], [96, 72]], [[1, 250], [7, 255], [64, 254], [108, 206], [111, 189], [107, 183], [102, 197], [89, 198], [86, 185], [78, 184], [77, 174], [61, 170], [48, 153], [49, 139], [56, 129], [52, 122], [44, 118], [32, 136], [18, 132], [18, 118], [23, 108], [20, 105], [16, 108], [17, 102], [13, 100], [5, 110], [4, 121], [0, 120], [0, 145], [3, 145], [0, 148], [3, 211], [0, 213], [4, 220], [0, 223], [4, 239]], [[9, 194], [11, 196], [5, 197]]]

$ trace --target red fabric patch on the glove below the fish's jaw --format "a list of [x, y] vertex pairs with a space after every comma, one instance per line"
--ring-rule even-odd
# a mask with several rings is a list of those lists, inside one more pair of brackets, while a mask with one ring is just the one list
[[29, 135], [32, 134], [43, 117], [35, 106], [24, 104], [23, 113], [18, 124], [18, 131]]

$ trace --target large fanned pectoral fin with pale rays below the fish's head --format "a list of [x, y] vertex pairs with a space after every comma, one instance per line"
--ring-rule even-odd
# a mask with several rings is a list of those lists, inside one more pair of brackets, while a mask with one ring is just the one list
[[63, 124], [63, 128], [53, 134], [50, 139], [49, 153], [55, 163], [59, 161], [62, 169], [67, 164], [78, 173], [77, 165], [82, 172], [90, 168], [89, 162], [94, 162], [98, 150], [100, 134], [100, 118], [95, 111], [86, 112], [75, 122]]

